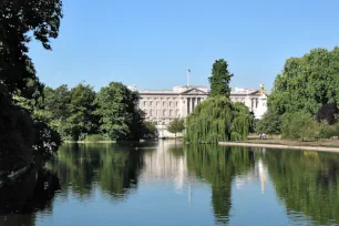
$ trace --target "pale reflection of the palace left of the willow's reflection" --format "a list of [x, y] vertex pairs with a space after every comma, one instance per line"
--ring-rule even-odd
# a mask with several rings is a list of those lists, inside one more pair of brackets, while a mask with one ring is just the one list
[[[178, 150], [182, 150], [181, 145]], [[160, 142], [156, 151], [144, 153], [143, 160], [141, 178], [144, 182], [171, 178], [177, 189], [187, 184], [186, 155], [175, 155], [175, 143]]]

